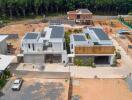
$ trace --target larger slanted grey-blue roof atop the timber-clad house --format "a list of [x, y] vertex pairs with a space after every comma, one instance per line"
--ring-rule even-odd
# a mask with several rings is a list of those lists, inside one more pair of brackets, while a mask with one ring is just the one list
[[101, 28], [89, 28], [89, 30], [93, 30], [100, 40], [110, 40], [108, 35]]

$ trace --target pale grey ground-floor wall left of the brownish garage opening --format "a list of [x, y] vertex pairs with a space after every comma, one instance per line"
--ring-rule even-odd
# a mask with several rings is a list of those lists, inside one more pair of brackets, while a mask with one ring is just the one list
[[25, 63], [44, 63], [44, 55], [42, 54], [24, 54]]

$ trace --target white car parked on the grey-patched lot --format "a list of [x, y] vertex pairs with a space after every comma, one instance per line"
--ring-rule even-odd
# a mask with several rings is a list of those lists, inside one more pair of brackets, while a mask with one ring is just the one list
[[12, 90], [13, 91], [19, 91], [21, 86], [22, 86], [22, 83], [23, 83], [23, 79], [22, 78], [17, 78], [14, 80], [13, 82], [13, 85], [12, 85]]

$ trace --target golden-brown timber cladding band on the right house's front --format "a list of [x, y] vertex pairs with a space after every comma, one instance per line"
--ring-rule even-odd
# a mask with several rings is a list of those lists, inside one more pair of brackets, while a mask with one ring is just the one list
[[114, 46], [77, 46], [75, 54], [114, 54]]

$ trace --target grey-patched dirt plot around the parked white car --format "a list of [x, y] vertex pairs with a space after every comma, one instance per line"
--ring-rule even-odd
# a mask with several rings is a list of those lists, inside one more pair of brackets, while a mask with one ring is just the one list
[[12, 82], [0, 100], [68, 100], [69, 81], [65, 79], [24, 78], [20, 91], [11, 90]]

